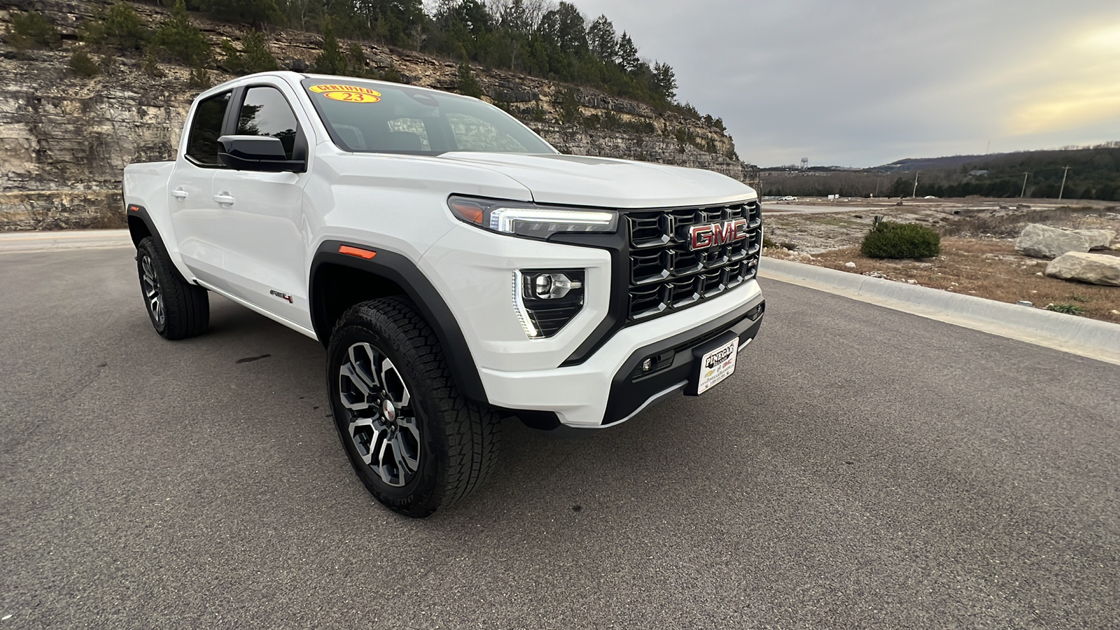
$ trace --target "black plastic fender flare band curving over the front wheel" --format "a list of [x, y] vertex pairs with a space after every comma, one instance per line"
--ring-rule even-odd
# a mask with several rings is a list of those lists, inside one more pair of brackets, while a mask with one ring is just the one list
[[[339, 253], [340, 247], [360, 248], [373, 251], [376, 254], [372, 258], [361, 258], [357, 256]], [[404, 290], [404, 294], [417, 305], [420, 314], [436, 332], [439, 344], [447, 356], [451, 376], [455, 377], [459, 390], [467, 398], [482, 404], [488, 404], [486, 388], [478, 376], [478, 367], [467, 345], [467, 339], [459, 327], [458, 321], [451, 309], [444, 302], [442, 296], [436, 287], [428, 280], [427, 276], [420, 271], [408, 257], [379, 247], [371, 247], [357, 242], [324, 241], [319, 244], [311, 258], [311, 269], [308, 286], [308, 297], [311, 306], [311, 325], [316, 336], [323, 345], [330, 341], [330, 330], [334, 322], [327, 321], [327, 313], [324, 300], [316, 293], [316, 280], [319, 268], [324, 265], [337, 265], [349, 267], [360, 271], [365, 271], [374, 276], [380, 276], [394, 282]]]

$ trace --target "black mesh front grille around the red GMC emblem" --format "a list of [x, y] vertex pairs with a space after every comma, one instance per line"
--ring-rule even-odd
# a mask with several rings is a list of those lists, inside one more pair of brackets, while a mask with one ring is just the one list
[[[732, 289], [758, 272], [762, 207], [758, 202], [626, 213], [629, 230], [628, 321], [688, 308]], [[747, 220], [747, 238], [689, 249], [689, 228]]]

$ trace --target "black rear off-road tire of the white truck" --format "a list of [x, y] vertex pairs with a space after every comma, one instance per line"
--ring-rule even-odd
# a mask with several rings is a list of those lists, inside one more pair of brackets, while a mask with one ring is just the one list
[[[209, 297], [206, 289], [188, 282], [175, 268], [164, 245], [152, 237], [147, 237], [137, 244], [137, 271], [140, 274], [140, 291], [148, 318], [160, 336], [174, 341], [206, 332], [209, 326]], [[152, 279], [159, 291], [158, 297], [161, 298], [161, 317], [149, 295]]]

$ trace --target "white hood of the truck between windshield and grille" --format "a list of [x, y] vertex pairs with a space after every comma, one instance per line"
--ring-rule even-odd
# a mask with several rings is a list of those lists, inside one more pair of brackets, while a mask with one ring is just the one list
[[754, 189], [710, 170], [624, 159], [456, 151], [440, 159], [488, 168], [516, 179], [538, 203], [600, 207], [669, 207], [730, 203]]

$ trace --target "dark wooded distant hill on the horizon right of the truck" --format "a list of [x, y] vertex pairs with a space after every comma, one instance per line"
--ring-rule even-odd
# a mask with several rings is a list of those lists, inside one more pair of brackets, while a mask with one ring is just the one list
[[[1068, 173], [1065, 167], [1070, 167]], [[1021, 194], [1056, 198], [1061, 193], [1064, 200], [1120, 201], [1120, 142], [1074, 149], [907, 158], [856, 170], [769, 169], [763, 172], [762, 179], [766, 195], [1018, 197]]]

